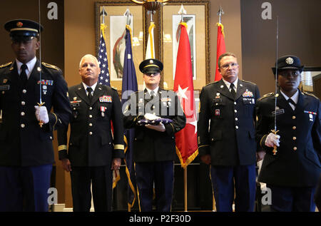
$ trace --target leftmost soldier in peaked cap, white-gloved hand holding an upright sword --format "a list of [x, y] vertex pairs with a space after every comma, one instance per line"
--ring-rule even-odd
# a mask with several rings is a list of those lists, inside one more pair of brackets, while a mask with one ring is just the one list
[[4, 27], [16, 59], [0, 66], [0, 211], [48, 211], [53, 131], [71, 115], [67, 83], [36, 58], [42, 26], [17, 19]]

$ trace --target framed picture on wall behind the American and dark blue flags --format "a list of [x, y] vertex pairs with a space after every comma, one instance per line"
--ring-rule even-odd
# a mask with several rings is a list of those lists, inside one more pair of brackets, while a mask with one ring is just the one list
[[[103, 16], [102, 11], [106, 11]], [[143, 7], [133, 4], [132, 1], [101, 1], [95, 3], [96, 16], [96, 56], [98, 56], [99, 41], [101, 37], [101, 24], [106, 26], [105, 42], [106, 55], [108, 59], [108, 71], [111, 80], [111, 86], [121, 91], [123, 81], [123, 58], [126, 47], [126, 24], [127, 16], [124, 16], [129, 9], [131, 31], [132, 31], [132, 48], [133, 62], [136, 68], [136, 75], [141, 74], [139, 63], [143, 61], [143, 32], [144, 32], [144, 12]], [[138, 84], [143, 83], [143, 77], [137, 76]]]

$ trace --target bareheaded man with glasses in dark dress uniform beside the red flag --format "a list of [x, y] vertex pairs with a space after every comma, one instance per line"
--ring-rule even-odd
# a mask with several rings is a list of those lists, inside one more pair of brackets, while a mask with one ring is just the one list
[[238, 79], [235, 54], [223, 53], [218, 68], [222, 79], [200, 93], [198, 153], [211, 165], [216, 210], [233, 210], [235, 188], [235, 211], [254, 211], [255, 102], [260, 93], [254, 83]]

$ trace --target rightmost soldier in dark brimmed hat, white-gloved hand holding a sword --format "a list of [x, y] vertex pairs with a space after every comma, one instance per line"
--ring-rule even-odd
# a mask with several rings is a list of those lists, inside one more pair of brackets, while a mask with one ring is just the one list
[[[321, 172], [320, 101], [297, 88], [303, 69], [297, 56], [282, 56], [275, 64], [277, 93], [263, 96], [256, 106], [257, 140], [266, 152], [258, 180], [271, 189], [272, 211], [315, 211], [313, 195]], [[277, 135], [271, 132], [275, 117]]]

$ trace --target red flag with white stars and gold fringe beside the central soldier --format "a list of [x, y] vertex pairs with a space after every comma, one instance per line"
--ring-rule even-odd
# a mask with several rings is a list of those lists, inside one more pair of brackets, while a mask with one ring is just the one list
[[187, 24], [180, 23], [180, 41], [176, 59], [174, 91], [186, 115], [183, 130], [175, 133], [176, 154], [180, 165], [185, 168], [198, 155], [197, 119], [194, 101], [193, 70], [190, 56]]

